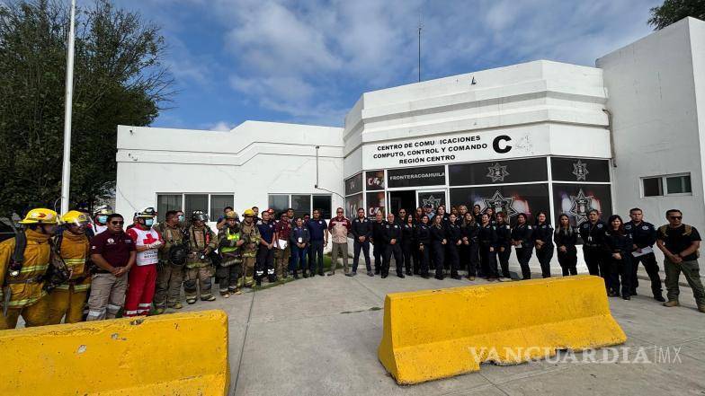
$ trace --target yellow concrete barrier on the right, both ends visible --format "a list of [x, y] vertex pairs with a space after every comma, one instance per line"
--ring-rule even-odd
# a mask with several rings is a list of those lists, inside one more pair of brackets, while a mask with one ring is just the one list
[[389, 294], [378, 356], [410, 384], [626, 340], [602, 278], [581, 275]]

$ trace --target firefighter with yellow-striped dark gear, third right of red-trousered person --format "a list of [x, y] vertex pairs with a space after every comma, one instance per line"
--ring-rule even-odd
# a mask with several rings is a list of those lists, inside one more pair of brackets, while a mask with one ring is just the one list
[[240, 237], [240, 221], [237, 214], [225, 214], [225, 223], [218, 232], [220, 264], [216, 268], [219, 292], [225, 298], [231, 294], [241, 295], [240, 277], [243, 275], [243, 260], [240, 247], [245, 243]]

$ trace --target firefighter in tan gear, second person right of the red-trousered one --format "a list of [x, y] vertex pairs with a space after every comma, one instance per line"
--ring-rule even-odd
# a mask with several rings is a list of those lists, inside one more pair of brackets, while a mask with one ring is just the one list
[[206, 225], [208, 215], [196, 210], [191, 216], [191, 225], [186, 230], [189, 239], [189, 255], [186, 256], [185, 281], [183, 291], [186, 303], [195, 304], [201, 289], [201, 301], [215, 301], [210, 294], [212, 265], [210, 253], [216, 250], [218, 236]]

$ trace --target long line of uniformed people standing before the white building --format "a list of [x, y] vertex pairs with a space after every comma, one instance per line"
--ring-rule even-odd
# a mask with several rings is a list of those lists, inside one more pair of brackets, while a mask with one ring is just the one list
[[[608, 295], [625, 300], [636, 295], [642, 263], [656, 300], [678, 306], [683, 272], [699, 310], [705, 312], [697, 261], [701, 237], [695, 227], [682, 223], [683, 215], [675, 209], [666, 212], [668, 224], [657, 229], [644, 221], [638, 208], [629, 211], [627, 223], [618, 215], [605, 223], [591, 210], [577, 228], [561, 215], [555, 229], [543, 212], [533, 224], [519, 214], [512, 226], [504, 213], [479, 206], [472, 211], [452, 207], [450, 213], [444, 206], [418, 207], [414, 213], [400, 209], [397, 216], [388, 213], [386, 220], [381, 211], [370, 219], [359, 209], [352, 221], [338, 207], [327, 222], [320, 210], [313, 216], [294, 216], [294, 210], [287, 209], [276, 216], [268, 209], [260, 216], [259, 208], [252, 207], [240, 218], [226, 207], [215, 231], [201, 210], [188, 221], [183, 212], [172, 210], [156, 224], [156, 215], [147, 207], [125, 227], [124, 217], [111, 207], [99, 207], [93, 216], [83, 209], [63, 216], [45, 208], [29, 211], [15, 237], [0, 242], [0, 330], [14, 328], [20, 316], [26, 326], [39, 326], [111, 319], [120, 310], [124, 316], [137, 316], [181, 309], [182, 286], [187, 304], [214, 301], [213, 276], [226, 298], [241, 294], [243, 287], [261, 286], [265, 278], [299, 278], [299, 271], [302, 277], [324, 276], [323, 251], [329, 241], [333, 265], [327, 275], [335, 274], [342, 258], [345, 275], [356, 276], [362, 255], [370, 277], [388, 277], [393, 258], [397, 277], [428, 278], [433, 270], [438, 279], [446, 274], [460, 279], [465, 270], [470, 280], [498, 281], [510, 278], [512, 248], [524, 279], [531, 278], [534, 251], [543, 277], [550, 277], [554, 250], [563, 275], [576, 275], [580, 237], [589, 272], [604, 278]], [[667, 301], [655, 243], [665, 255]]]

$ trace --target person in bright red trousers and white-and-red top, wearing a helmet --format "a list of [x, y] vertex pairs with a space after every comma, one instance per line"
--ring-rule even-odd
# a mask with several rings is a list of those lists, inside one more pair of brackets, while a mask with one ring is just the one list
[[135, 268], [128, 274], [128, 292], [125, 298], [125, 316], [147, 315], [152, 307], [156, 286], [156, 263], [159, 247], [164, 244], [152, 225], [156, 217], [154, 207], [147, 207], [137, 214], [137, 224], [128, 230], [135, 242], [137, 258]]

